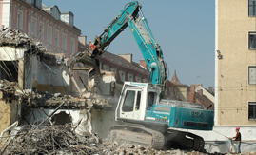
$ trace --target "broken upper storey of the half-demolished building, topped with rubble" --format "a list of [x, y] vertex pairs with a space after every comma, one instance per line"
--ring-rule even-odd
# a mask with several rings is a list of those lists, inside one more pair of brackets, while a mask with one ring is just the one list
[[[18, 82], [21, 89], [67, 94], [69, 58], [65, 54], [47, 51], [40, 42], [19, 30], [6, 28], [0, 34], [1, 79]], [[8, 63], [15, 68], [3, 68]], [[13, 79], [15, 75], [17, 79]]]

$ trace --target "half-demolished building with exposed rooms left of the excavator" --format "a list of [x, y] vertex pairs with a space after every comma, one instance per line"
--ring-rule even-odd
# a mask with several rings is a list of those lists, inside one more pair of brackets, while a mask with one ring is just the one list
[[112, 109], [108, 98], [96, 94], [68, 95], [70, 72], [65, 55], [48, 52], [19, 30], [2, 29], [0, 35], [1, 132], [15, 121], [34, 125], [49, 118], [56, 125], [81, 121], [78, 128], [91, 132], [92, 108]]

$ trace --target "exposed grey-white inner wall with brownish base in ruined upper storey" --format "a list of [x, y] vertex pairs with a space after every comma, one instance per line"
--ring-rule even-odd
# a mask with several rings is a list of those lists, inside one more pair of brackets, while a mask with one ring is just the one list
[[66, 62], [61, 61], [57, 64], [57, 58], [57, 55], [51, 55], [48, 61], [41, 62], [38, 56], [26, 54], [26, 89], [67, 94], [69, 90], [69, 70], [65, 65]]

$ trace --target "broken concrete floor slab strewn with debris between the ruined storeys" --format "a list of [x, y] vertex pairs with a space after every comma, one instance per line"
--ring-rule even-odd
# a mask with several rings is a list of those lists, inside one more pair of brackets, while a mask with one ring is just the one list
[[[21, 99], [23, 105], [27, 107], [58, 107], [64, 101], [67, 101], [63, 106], [77, 109], [112, 109], [112, 103], [108, 99], [97, 95], [83, 95], [73, 97], [71, 95], [62, 95], [61, 93], [49, 92], [31, 92], [31, 90], [19, 90], [17, 83], [9, 82], [8, 80], [0, 80], [0, 91], [6, 97], [6, 102], [11, 100]], [[113, 101], [110, 101], [113, 102]]]

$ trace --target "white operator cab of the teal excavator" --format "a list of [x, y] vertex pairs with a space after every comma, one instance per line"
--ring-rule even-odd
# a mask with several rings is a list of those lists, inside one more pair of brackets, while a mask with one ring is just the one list
[[160, 88], [148, 83], [125, 82], [115, 111], [115, 120], [145, 120], [146, 110], [159, 104]]

